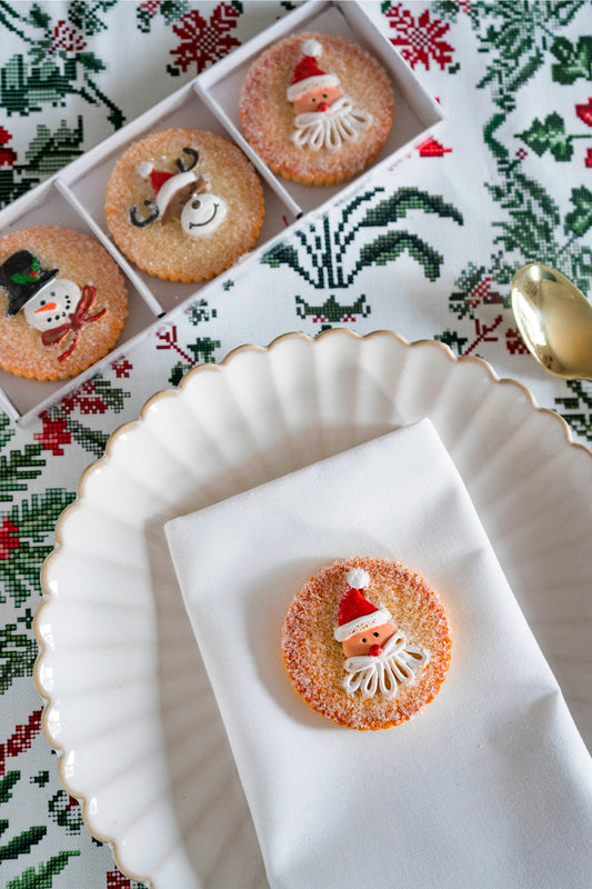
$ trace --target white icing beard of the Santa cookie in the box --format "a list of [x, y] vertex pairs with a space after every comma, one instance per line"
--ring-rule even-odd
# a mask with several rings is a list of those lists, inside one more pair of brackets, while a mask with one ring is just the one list
[[299, 148], [319, 151], [335, 150], [343, 142], [358, 139], [372, 121], [372, 114], [363, 108], [354, 108], [347, 96], [342, 96], [327, 111], [305, 111], [294, 118], [293, 141]]

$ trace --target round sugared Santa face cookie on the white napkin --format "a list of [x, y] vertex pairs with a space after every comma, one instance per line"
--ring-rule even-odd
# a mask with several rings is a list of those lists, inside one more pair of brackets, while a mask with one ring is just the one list
[[297, 691], [341, 726], [381, 729], [433, 699], [450, 662], [448, 619], [418, 575], [384, 559], [350, 559], [295, 596], [282, 652]]

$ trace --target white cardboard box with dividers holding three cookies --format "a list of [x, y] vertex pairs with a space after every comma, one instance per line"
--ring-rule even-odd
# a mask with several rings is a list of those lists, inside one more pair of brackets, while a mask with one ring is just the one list
[[17, 229], [43, 224], [58, 224], [93, 236], [111, 253], [127, 279], [129, 316], [113, 351], [66, 383], [23, 380], [0, 370], [0, 407], [13, 419], [24, 422], [36, 417], [123, 354], [137, 338], [158, 326], [159, 319], [178, 306], [190, 302], [198, 291], [205, 291], [212, 283], [183, 284], [153, 278], [129, 262], [113, 244], [104, 216], [104, 193], [116, 161], [132, 142], [170, 127], [194, 127], [217, 132], [242, 149], [261, 176], [265, 219], [257, 247], [239, 260], [241, 264], [257, 261], [274, 242], [289, 237], [301, 224], [299, 220], [303, 216], [320, 214], [338, 196], [340, 200], [351, 198], [364, 187], [369, 170], [345, 187], [314, 188], [289, 182], [269, 170], [242, 134], [239, 92], [249, 66], [269, 44], [301, 31], [338, 34], [353, 40], [379, 59], [391, 78], [394, 124], [387, 144], [369, 170], [392, 164], [411, 144], [424, 140], [443, 119], [438, 102], [377, 29], [363, 2], [311, 0], [19, 198], [0, 211], [0, 237]]

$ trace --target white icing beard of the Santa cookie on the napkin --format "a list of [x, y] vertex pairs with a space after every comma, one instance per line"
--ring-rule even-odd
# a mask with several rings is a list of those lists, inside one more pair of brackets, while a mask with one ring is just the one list
[[343, 680], [343, 688], [348, 695], [361, 690], [362, 698], [373, 698], [377, 691], [394, 698], [399, 686], [412, 682], [415, 671], [428, 660], [427, 651], [408, 642], [403, 633], [395, 632], [378, 657], [355, 655], [348, 658], [343, 669], [349, 676]]

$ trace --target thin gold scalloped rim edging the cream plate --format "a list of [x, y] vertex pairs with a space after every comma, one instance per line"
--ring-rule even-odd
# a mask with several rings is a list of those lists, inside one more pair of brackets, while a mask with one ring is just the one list
[[[50, 569], [51, 565], [53, 563], [53, 561], [56, 559], [59, 558], [61, 549], [62, 549], [62, 546], [63, 546], [63, 533], [62, 533], [63, 522], [66, 521], [66, 519], [70, 515], [72, 515], [72, 512], [74, 512], [79, 508], [80, 501], [84, 497], [84, 488], [86, 488], [87, 480], [89, 479], [89, 477], [94, 472], [96, 469], [100, 468], [101, 466], [104, 466], [104, 463], [108, 462], [108, 460], [110, 460], [111, 453], [112, 453], [112, 449], [114, 447], [114, 443], [116, 443], [117, 439], [119, 439], [120, 436], [127, 434], [129, 432], [132, 432], [134, 429], [137, 429], [143, 422], [143, 420], [146, 419], [146, 417], [147, 417], [148, 412], [151, 410], [151, 408], [154, 404], [157, 404], [159, 401], [161, 401], [163, 398], [172, 398], [172, 397], [178, 396], [184, 389], [184, 387], [188, 384], [189, 380], [192, 379], [195, 374], [203, 373], [203, 372], [211, 372], [211, 373], [217, 373], [218, 372], [218, 373], [220, 373], [220, 372], [222, 372], [223, 368], [227, 367], [227, 364], [229, 364], [234, 358], [237, 358], [237, 356], [240, 356], [243, 352], [262, 352], [262, 353], [270, 352], [273, 349], [275, 349], [279, 346], [281, 346], [283, 342], [290, 341], [290, 340], [301, 340], [303, 342], [310, 343], [311, 346], [314, 346], [314, 343], [318, 342], [318, 341], [327, 339], [328, 337], [335, 337], [335, 336], [337, 337], [349, 337], [350, 339], [355, 339], [355, 340], [372, 340], [372, 339], [378, 339], [380, 337], [389, 337], [391, 339], [397, 340], [402, 346], [404, 346], [405, 348], [409, 348], [409, 349], [415, 349], [415, 348], [420, 348], [420, 347], [421, 348], [429, 347], [429, 348], [433, 348], [433, 349], [440, 349], [440, 350], [443, 351], [443, 353], [446, 356], [446, 358], [450, 361], [454, 362], [454, 363], [475, 363], [475, 364], [484, 368], [484, 370], [488, 372], [488, 376], [490, 377], [490, 379], [493, 382], [500, 383], [502, 386], [511, 386], [513, 388], [520, 389], [523, 392], [523, 394], [528, 398], [528, 400], [529, 400], [529, 402], [530, 402], [532, 408], [534, 408], [536, 411], [539, 411], [541, 413], [546, 413], [550, 417], [553, 417], [561, 424], [561, 428], [563, 429], [563, 434], [564, 434], [564, 438], [565, 438], [565, 443], [568, 446], [570, 446], [572, 448], [576, 448], [576, 449], [583, 451], [584, 453], [586, 453], [589, 457], [592, 458], [592, 450], [590, 448], [588, 448], [585, 444], [580, 444], [579, 442], [573, 441], [570, 427], [568, 426], [568, 423], [565, 422], [563, 417], [560, 417], [559, 413], [556, 413], [553, 410], [550, 410], [549, 408], [540, 407], [536, 403], [536, 399], [534, 398], [534, 396], [532, 394], [530, 389], [526, 386], [524, 386], [524, 383], [521, 383], [518, 380], [513, 380], [513, 379], [509, 379], [509, 378], [500, 378], [495, 373], [495, 371], [493, 370], [493, 368], [489, 363], [489, 361], [485, 361], [483, 358], [478, 358], [476, 356], [456, 356], [452, 351], [452, 349], [450, 349], [450, 347], [448, 347], [443, 342], [439, 342], [438, 340], [422, 339], [422, 340], [415, 340], [414, 342], [409, 342], [409, 340], [407, 340], [404, 337], [402, 337], [400, 333], [397, 333], [393, 330], [374, 330], [374, 331], [372, 331], [370, 333], [361, 334], [361, 333], [355, 333], [354, 331], [349, 330], [347, 328], [332, 328], [330, 330], [323, 331], [322, 333], [320, 333], [318, 337], [314, 337], [314, 338], [313, 337], [309, 337], [305, 333], [300, 333], [298, 331], [294, 331], [294, 332], [282, 333], [281, 336], [279, 336], [275, 339], [273, 339], [268, 346], [255, 346], [253, 343], [245, 343], [243, 346], [238, 346], [235, 349], [232, 349], [222, 359], [222, 361], [220, 363], [218, 363], [218, 364], [203, 364], [202, 363], [202, 364], [198, 364], [194, 368], [191, 368], [191, 370], [189, 370], [184, 374], [183, 379], [181, 380], [181, 382], [179, 383], [179, 386], [175, 389], [163, 389], [163, 390], [161, 390], [159, 392], [155, 392], [153, 396], [151, 396], [144, 402], [143, 407], [141, 408], [139, 417], [138, 417], [137, 420], [131, 420], [131, 421], [124, 422], [121, 426], [117, 427], [111, 432], [111, 434], [109, 436], [109, 439], [107, 441], [103, 456], [100, 457], [98, 460], [94, 460], [92, 463], [90, 463], [83, 470], [83, 472], [81, 473], [80, 479], [79, 479], [78, 485], [77, 485], [77, 497], [76, 497], [76, 500], [72, 503], [70, 503], [70, 506], [68, 506], [62, 511], [62, 513], [60, 515], [60, 517], [58, 518], [58, 521], [56, 523], [56, 547], [54, 547], [53, 551], [46, 558], [46, 560], [43, 561], [43, 565], [41, 567], [40, 579], [41, 579], [41, 590], [42, 590], [42, 593], [43, 593], [43, 600], [40, 603], [40, 606], [38, 607], [38, 609], [36, 611], [36, 615], [34, 615], [34, 618], [33, 618], [33, 632], [34, 632], [34, 636], [36, 636], [36, 639], [37, 639], [37, 643], [39, 646], [39, 653], [37, 656], [37, 659], [36, 659], [36, 662], [34, 662], [34, 667], [33, 667], [33, 679], [34, 679], [34, 683], [36, 683], [36, 687], [37, 687], [37, 690], [38, 690], [39, 695], [46, 701], [46, 703], [43, 705], [41, 726], [42, 726], [42, 730], [43, 730], [43, 735], [46, 736], [46, 739], [48, 740], [48, 742], [51, 745], [51, 747], [53, 747], [53, 749], [58, 753], [58, 775], [59, 775], [60, 781], [61, 781], [66, 792], [69, 793], [71, 797], [73, 797], [74, 799], [77, 799], [79, 801], [81, 813], [82, 813], [82, 820], [84, 821], [84, 826], [86, 826], [87, 830], [89, 831], [89, 833], [92, 837], [94, 837], [96, 839], [98, 839], [100, 842], [104, 842], [107, 846], [109, 846], [109, 848], [111, 849], [111, 852], [113, 855], [114, 862], [116, 862], [117, 867], [119, 868], [119, 870], [126, 877], [128, 877], [131, 880], [134, 880], [136, 882], [150, 881], [153, 885], [152, 879], [148, 875], [140, 876], [138, 873], [134, 873], [133, 871], [130, 871], [127, 867], [124, 867], [121, 863], [121, 856], [120, 856], [120, 852], [119, 852], [119, 849], [118, 849], [117, 841], [112, 837], [106, 837], [106, 836], [101, 835], [100, 831], [98, 831], [92, 826], [91, 816], [89, 815], [88, 800], [86, 799], [84, 796], [81, 796], [72, 787], [70, 787], [70, 783], [69, 783], [68, 779], [66, 778], [66, 776], [63, 773], [63, 759], [64, 759], [63, 758], [63, 752], [64, 752], [63, 747], [52, 736], [51, 730], [49, 728], [49, 712], [50, 712], [51, 707], [53, 706], [53, 698], [52, 698], [52, 696], [50, 693], [48, 695], [46, 689], [42, 687], [41, 679], [40, 679], [40, 672], [41, 672], [41, 668], [42, 668], [42, 662], [43, 662], [43, 658], [44, 658], [44, 655], [46, 655], [46, 645], [44, 645], [43, 638], [41, 636], [40, 623], [41, 623], [41, 620], [42, 620], [42, 615], [43, 615], [43, 611], [46, 609], [46, 606], [49, 605], [49, 602], [51, 600], [51, 590], [50, 590], [50, 586], [49, 586], [48, 575], [49, 575], [49, 569]], [[154, 889], [158, 889], [158, 888], [154, 887]]]

